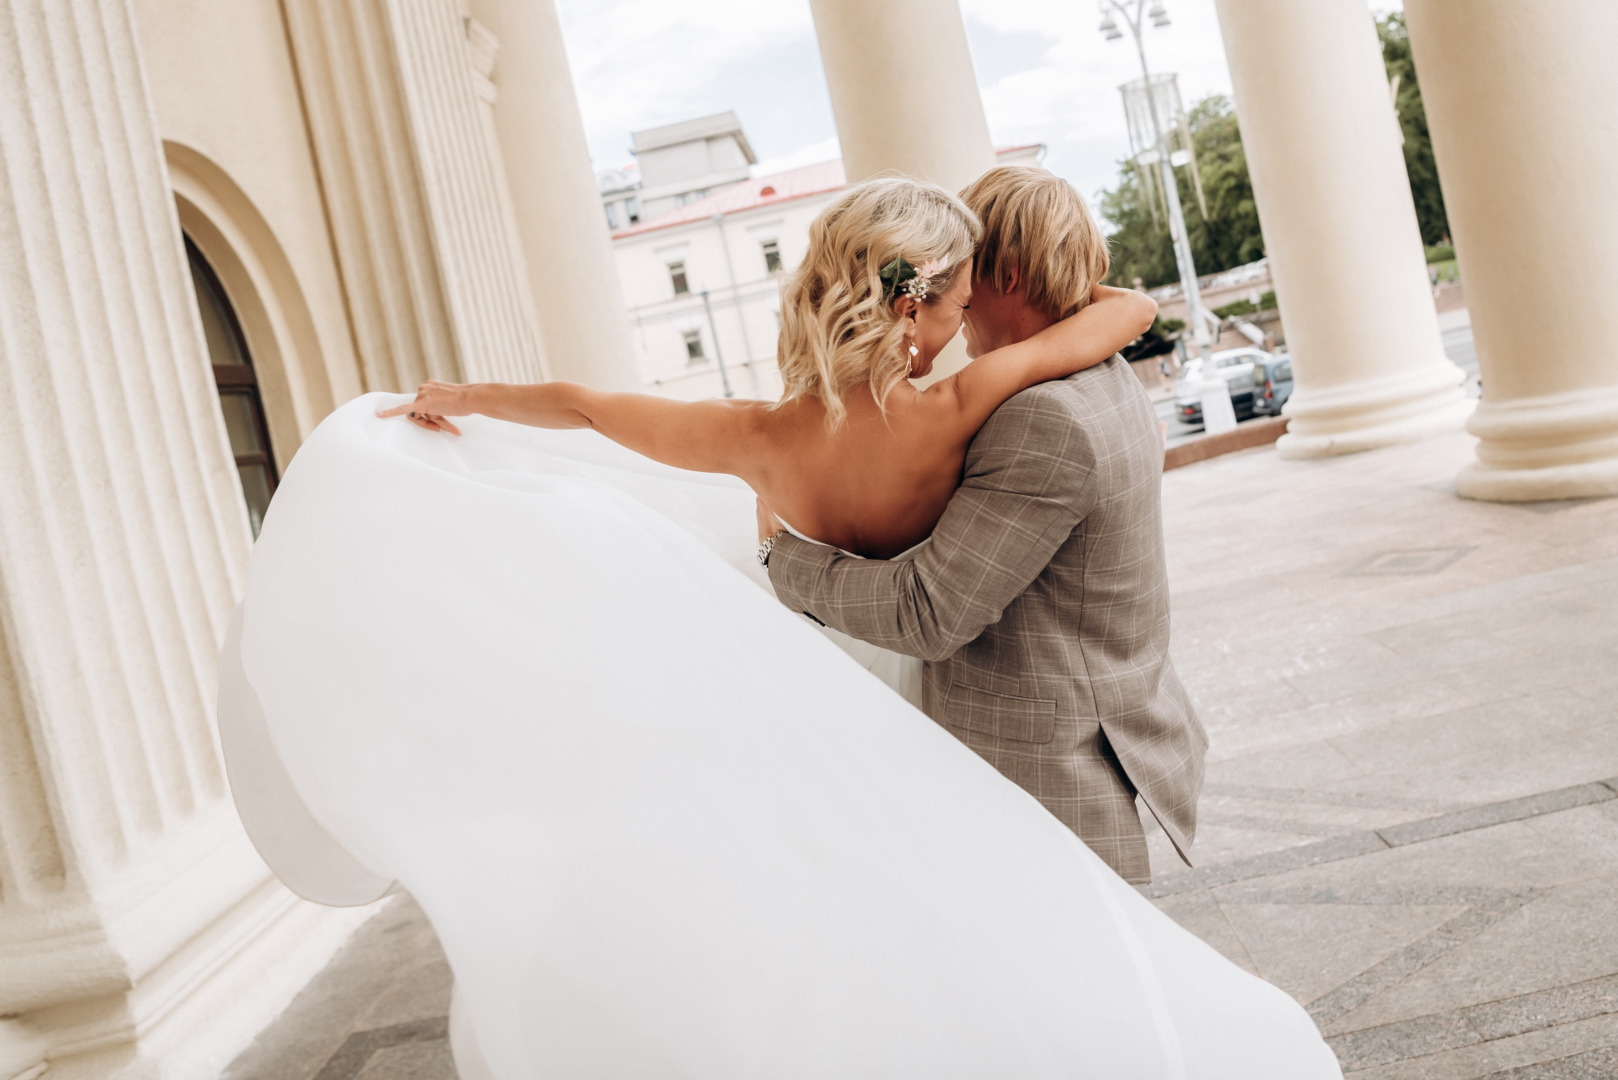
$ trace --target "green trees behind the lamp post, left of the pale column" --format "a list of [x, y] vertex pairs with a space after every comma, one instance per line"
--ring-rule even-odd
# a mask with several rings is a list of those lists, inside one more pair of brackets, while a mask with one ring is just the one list
[[[1196, 144], [1202, 193], [1207, 196], [1207, 219], [1197, 207], [1189, 167], [1175, 170], [1175, 178], [1197, 274], [1217, 274], [1264, 257], [1264, 233], [1259, 230], [1259, 209], [1247, 180], [1247, 155], [1241, 147], [1241, 130], [1228, 97], [1214, 94], [1191, 107], [1191, 141]], [[1178, 282], [1180, 270], [1175, 267], [1162, 199], [1158, 198], [1154, 220], [1147, 202], [1149, 189], [1136, 168], [1134, 162], [1125, 162], [1118, 185], [1103, 191], [1097, 201], [1100, 215], [1113, 225], [1108, 236], [1113, 264], [1107, 280], [1128, 287], [1139, 277], [1146, 288], [1154, 288]]]

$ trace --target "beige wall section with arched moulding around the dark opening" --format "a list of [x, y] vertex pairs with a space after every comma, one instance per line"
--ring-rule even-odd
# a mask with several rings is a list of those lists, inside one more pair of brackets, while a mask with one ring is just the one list
[[136, 0], [181, 225], [259, 368], [282, 468], [366, 385], [277, 0]]

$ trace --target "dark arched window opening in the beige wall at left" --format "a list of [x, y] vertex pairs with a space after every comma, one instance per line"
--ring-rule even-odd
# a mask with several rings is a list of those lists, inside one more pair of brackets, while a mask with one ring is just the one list
[[270, 495], [275, 494], [277, 479], [259, 379], [252, 371], [252, 356], [248, 353], [248, 338], [241, 334], [236, 309], [231, 308], [214, 267], [189, 236], [186, 236], [186, 259], [191, 264], [191, 285], [197, 293], [197, 311], [202, 313], [202, 337], [214, 361], [214, 385], [218, 389], [220, 411], [225, 413], [230, 452], [236, 458], [241, 494], [248, 500], [248, 520], [252, 534], [257, 536], [264, 512], [270, 507]]

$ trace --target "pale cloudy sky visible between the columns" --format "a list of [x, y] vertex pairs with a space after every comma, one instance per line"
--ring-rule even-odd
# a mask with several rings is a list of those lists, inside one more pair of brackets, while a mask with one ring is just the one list
[[[904, 0], [875, 0], [903, 3]], [[1398, 10], [1401, 0], [1367, 0]], [[1045, 167], [1094, 198], [1129, 152], [1118, 86], [1134, 42], [1108, 42], [1089, 0], [959, 0], [995, 146], [1044, 142]], [[1230, 94], [1214, 0], [1165, 0], [1146, 32], [1154, 73], [1189, 108]], [[838, 157], [809, 0], [557, 0], [597, 168], [625, 165], [629, 133], [735, 110], [765, 175]]]

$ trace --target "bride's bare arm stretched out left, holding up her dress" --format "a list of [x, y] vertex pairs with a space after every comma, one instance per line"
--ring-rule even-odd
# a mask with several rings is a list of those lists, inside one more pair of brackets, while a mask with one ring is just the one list
[[424, 382], [409, 405], [377, 416], [409, 416], [438, 429], [447, 416], [482, 413], [529, 427], [592, 427], [646, 457], [697, 473], [748, 479], [756, 463], [764, 402], [671, 402], [650, 393], [608, 393], [578, 382]]

